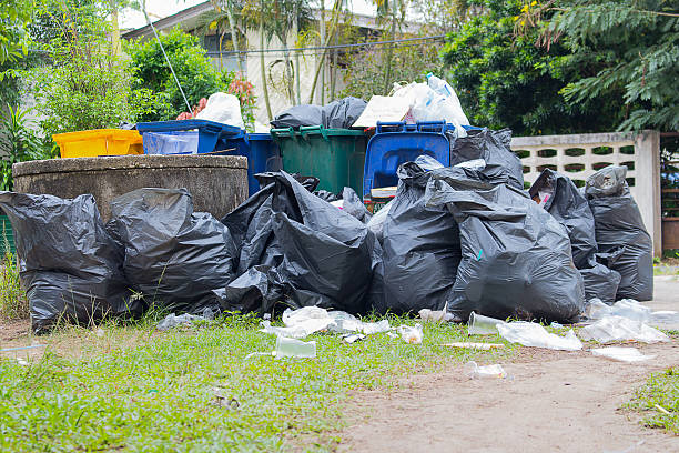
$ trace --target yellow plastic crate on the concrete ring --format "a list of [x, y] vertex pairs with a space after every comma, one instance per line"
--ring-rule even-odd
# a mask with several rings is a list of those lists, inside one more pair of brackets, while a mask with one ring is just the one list
[[138, 131], [95, 129], [92, 131], [52, 135], [62, 158], [143, 154], [142, 137]]

